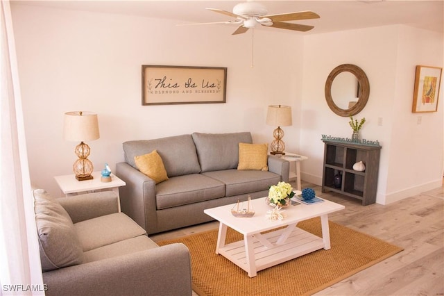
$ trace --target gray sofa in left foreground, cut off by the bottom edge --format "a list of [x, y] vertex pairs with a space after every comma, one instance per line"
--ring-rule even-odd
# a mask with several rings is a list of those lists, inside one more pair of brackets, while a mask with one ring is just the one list
[[114, 192], [33, 195], [46, 295], [191, 295], [187, 247], [158, 247]]

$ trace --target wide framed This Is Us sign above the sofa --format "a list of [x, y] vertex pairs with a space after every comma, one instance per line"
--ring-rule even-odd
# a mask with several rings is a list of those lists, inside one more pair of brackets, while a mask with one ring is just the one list
[[142, 65], [142, 105], [225, 103], [226, 67]]

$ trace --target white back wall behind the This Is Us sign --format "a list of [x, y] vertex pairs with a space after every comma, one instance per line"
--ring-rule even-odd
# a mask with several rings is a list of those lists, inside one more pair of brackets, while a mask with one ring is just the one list
[[[63, 114], [98, 113], [101, 138], [87, 142], [96, 170], [123, 161], [121, 143], [194, 131], [251, 131], [271, 142], [270, 104], [291, 105], [298, 118], [302, 37], [257, 30], [254, 67], [250, 33], [235, 26], [176, 26], [144, 17], [59, 10], [12, 3], [24, 101], [31, 181], [53, 195], [53, 176], [71, 174], [78, 143], [62, 138]], [[142, 106], [141, 65], [228, 67], [226, 104]], [[295, 120], [297, 121], [297, 120]], [[298, 127], [284, 129], [298, 151]]]

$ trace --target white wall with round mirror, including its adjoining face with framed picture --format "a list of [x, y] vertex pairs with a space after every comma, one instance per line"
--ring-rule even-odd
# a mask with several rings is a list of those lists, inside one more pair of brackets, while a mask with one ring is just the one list
[[[379, 140], [377, 202], [387, 204], [441, 186], [443, 172], [443, 95], [438, 113], [411, 113], [416, 65], [443, 67], [443, 35], [407, 26], [384, 26], [305, 38], [300, 153], [302, 179], [321, 184], [321, 135], [349, 137], [348, 117], [325, 103], [324, 85], [337, 65], [351, 63], [366, 72], [370, 97], [355, 115], [366, 117], [361, 138]], [[378, 125], [379, 117], [382, 126]]]

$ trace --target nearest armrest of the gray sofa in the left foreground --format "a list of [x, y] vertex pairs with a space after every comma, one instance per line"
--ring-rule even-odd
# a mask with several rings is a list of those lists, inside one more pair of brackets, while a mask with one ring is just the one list
[[191, 295], [191, 259], [183, 244], [43, 273], [46, 295]]

